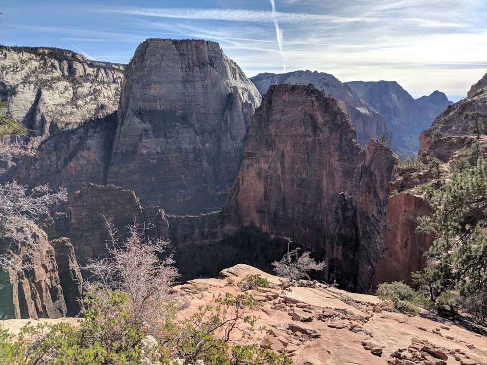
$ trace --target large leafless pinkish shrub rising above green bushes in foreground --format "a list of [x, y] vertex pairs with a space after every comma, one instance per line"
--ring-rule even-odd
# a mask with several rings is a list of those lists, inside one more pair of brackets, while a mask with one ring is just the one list
[[129, 226], [129, 237], [120, 241], [117, 231], [107, 222], [110, 240], [108, 256], [90, 262], [85, 269], [94, 274], [87, 282], [88, 293], [97, 293], [103, 299], [117, 290], [128, 296], [127, 311], [132, 325], [144, 333], [159, 338], [162, 326], [174, 314], [174, 296], [171, 287], [180, 276], [173, 266], [173, 255], [160, 259], [169, 241], [151, 240], [145, 235], [149, 228]]

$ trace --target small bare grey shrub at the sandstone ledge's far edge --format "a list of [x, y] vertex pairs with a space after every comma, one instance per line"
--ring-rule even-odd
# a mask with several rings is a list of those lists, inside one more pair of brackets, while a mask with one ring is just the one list
[[299, 280], [302, 278], [310, 279], [309, 272], [312, 270], [321, 271], [326, 266], [326, 263], [321, 261], [317, 263], [309, 255], [309, 251], [304, 252], [299, 256], [299, 248], [290, 251], [291, 238], [284, 237], [287, 240], [287, 253], [280, 261], [274, 261], [274, 271], [282, 277], [286, 277], [289, 281]]

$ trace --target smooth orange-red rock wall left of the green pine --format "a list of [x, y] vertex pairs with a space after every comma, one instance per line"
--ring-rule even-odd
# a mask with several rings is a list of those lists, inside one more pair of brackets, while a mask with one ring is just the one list
[[392, 281], [412, 285], [411, 272], [421, 270], [423, 254], [433, 243], [431, 236], [415, 233], [417, 218], [432, 213], [431, 205], [414, 195], [397, 194], [389, 199], [384, 235], [387, 249], [377, 264], [373, 289]]

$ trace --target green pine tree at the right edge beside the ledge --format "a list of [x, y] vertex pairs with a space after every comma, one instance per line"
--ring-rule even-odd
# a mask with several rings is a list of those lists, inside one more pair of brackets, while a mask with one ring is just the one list
[[[426, 197], [435, 212], [419, 230], [436, 237], [428, 255], [439, 287], [459, 292], [467, 305], [477, 296], [487, 298], [487, 160], [479, 157], [476, 166], [453, 174]], [[486, 319], [485, 300], [475, 310]]]

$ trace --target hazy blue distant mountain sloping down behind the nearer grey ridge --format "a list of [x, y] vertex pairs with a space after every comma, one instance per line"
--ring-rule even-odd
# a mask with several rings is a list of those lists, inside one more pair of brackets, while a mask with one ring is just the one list
[[395, 81], [347, 82], [357, 95], [381, 113], [389, 123], [403, 155], [416, 153], [419, 133], [431, 126], [432, 118], [412, 96]]

